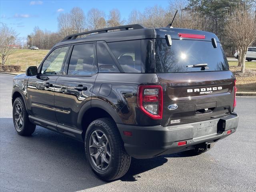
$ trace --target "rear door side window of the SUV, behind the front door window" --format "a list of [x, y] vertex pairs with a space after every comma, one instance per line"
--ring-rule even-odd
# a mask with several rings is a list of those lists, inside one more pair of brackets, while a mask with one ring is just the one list
[[91, 75], [94, 73], [94, 45], [75, 45], [70, 57], [68, 75]]

